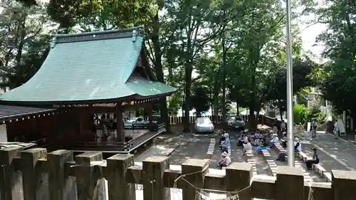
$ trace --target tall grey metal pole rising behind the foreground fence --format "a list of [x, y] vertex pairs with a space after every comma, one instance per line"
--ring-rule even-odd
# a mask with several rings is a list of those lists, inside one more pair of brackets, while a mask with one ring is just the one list
[[290, 28], [290, 0], [286, 0], [286, 41], [287, 41], [287, 120], [288, 120], [288, 166], [294, 167], [293, 133], [293, 69], [292, 69], [292, 31]]

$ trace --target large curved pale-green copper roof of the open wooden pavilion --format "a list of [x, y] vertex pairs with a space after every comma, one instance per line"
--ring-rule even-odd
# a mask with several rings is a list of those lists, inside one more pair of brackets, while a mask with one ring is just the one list
[[143, 43], [134, 30], [56, 36], [36, 75], [0, 95], [0, 101], [73, 102], [173, 93], [175, 88], [155, 81], [127, 83]]

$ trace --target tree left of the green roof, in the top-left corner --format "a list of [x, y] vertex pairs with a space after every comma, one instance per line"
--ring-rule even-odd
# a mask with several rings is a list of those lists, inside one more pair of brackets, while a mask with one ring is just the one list
[[53, 28], [45, 6], [23, 6], [6, 2], [1, 12], [1, 88], [26, 83], [41, 67], [49, 51]]

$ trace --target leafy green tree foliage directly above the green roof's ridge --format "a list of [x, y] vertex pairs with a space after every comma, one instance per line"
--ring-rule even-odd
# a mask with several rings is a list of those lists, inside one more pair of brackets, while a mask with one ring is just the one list
[[65, 33], [102, 31], [145, 24], [157, 13], [155, 0], [51, 0], [48, 14]]

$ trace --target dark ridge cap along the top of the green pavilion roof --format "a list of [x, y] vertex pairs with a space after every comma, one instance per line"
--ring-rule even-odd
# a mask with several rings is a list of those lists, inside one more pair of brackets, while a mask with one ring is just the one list
[[53, 36], [51, 46], [55, 46], [56, 43], [71, 43], [80, 41], [96, 41], [105, 39], [116, 39], [116, 38], [130, 38], [135, 36], [141, 36], [140, 26], [116, 29], [108, 31], [93, 31], [86, 33], [72, 33], [72, 34], [58, 34]]

